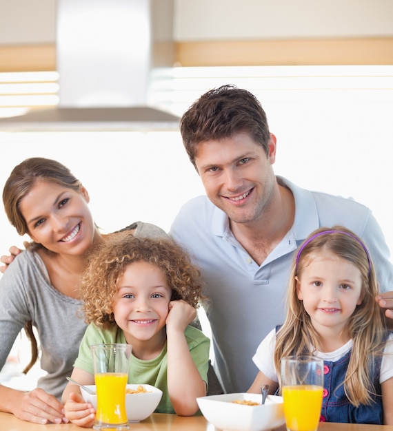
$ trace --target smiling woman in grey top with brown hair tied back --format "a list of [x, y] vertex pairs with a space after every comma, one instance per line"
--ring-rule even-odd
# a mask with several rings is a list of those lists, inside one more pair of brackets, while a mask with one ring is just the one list
[[[21, 328], [31, 329], [34, 322], [41, 341], [41, 365], [47, 372], [41, 377], [42, 389], [30, 392], [30, 401], [24, 399], [23, 392], [0, 387], [0, 392], [8, 395], [1, 397], [0, 409], [21, 419], [41, 423], [63, 420], [56, 396], [77, 355], [75, 340], [81, 339], [85, 330], [85, 323], [75, 318], [81, 307], [75, 286], [86, 253], [102, 240], [88, 201], [87, 191], [70, 170], [46, 158], [30, 158], [14, 167], [3, 189], [10, 222], [20, 235], [28, 233], [33, 242], [0, 280], [4, 335], [0, 364], [5, 363]], [[46, 412], [32, 407], [34, 398], [43, 401]], [[10, 399], [12, 403], [7, 401]]]

